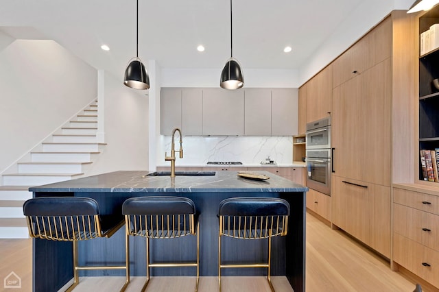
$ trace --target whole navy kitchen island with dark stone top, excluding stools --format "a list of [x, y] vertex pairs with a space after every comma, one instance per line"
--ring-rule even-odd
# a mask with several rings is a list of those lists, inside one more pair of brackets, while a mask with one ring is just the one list
[[[241, 178], [236, 171], [217, 171], [215, 175], [170, 178], [148, 175], [154, 171], [115, 171], [77, 180], [29, 188], [34, 197], [92, 197], [99, 203], [102, 215], [120, 214], [123, 202], [130, 197], [176, 195], [188, 197], [200, 213], [200, 276], [218, 275], [219, 202], [229, 197], [281, 197], [290, 204], [287, 236], [272, 240], [272, 276], [287, 276], [294, 291], [305, 291], [305, 195], [307, 188], [273, 173], [268, 180]], [[115, 265], [125, 261], [125, 228], [110, 239], [93, 239], [79, 243], [80, 265]], [[151, 260], [195, 259], [195, 236], [180, 239], [153, 239]], [[224, 262], [265, 261], [268, 241], [224, 238]], [[58, 291], [73, 278], [71, 243], [34, 239], [34, 291]], [[130, 273], [145, 276], [145, 239], [130, 236]], [[81, 271], [80, 276], [124, 276], [125, 271]], [[193, 268], [152, 269], [152, 276], [194, 276]], [[266, 269], [225, 269], [223, 276], [262, 276]]]

